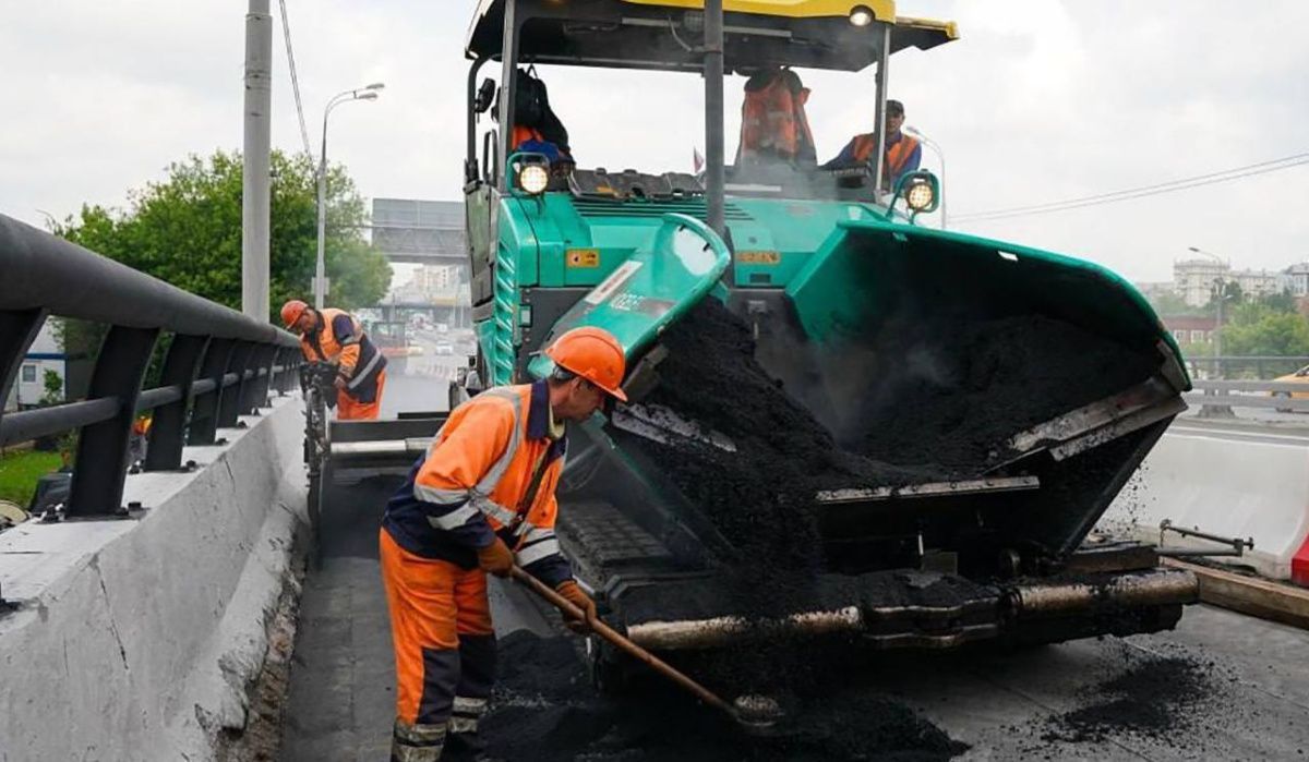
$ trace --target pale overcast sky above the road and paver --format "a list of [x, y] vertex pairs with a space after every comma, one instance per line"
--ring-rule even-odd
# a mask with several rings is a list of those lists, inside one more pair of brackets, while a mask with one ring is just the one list
[[[42, 225], [188, 153], [241, 147], [241, 0], [0, 0], [0, 212]], [[368, 196], [458, 199], [462, 42], [473, 0], [287, 0], [317, 151], [334, 93], [386, 82], [332, 114], [330, 154]], [[274, 144], [301, 147], [274, 0]], [[1004, 209], [1309, 153], [1309, 3], [901, 0], [961, 39], [893, 59], [891, 96], [948, 158], [949, 213]], [[687, 170], [699, 81], [550, 69], [584, 166]], [[804, 73], [804, 72], [802, 72]], [[819, 153], [868, 128], [869, 75], [804, 73]], [[740, 84], [729, 81], [729, 113]], [[729, 136], [738, 119], [729, 114]], [[734, 151], [729, 137], [728, 151]], [[927, 164], [936, 160], [927, 154]], [[1309, 165], [1090, 208], [959, 221], [975, 233], [1166, 280], [1198, 246], [1237, 267], [1309, 259]]]

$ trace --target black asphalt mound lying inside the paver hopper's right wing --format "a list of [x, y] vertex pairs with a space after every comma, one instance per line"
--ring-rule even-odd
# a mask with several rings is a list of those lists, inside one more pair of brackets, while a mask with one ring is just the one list
[[1014, 433], [1123, 391], [1152, 359], [1039, 314], [893, 322], [860, 354], [868, 393], [842, 441], [967, 475]]

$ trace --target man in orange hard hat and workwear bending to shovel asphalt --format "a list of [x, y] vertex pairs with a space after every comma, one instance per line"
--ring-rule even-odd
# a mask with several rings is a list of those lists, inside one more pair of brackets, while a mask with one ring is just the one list
[[487, 572], [517, 564], [594, 621], [555, 537], [555, 486], [564, 422], [626, 401], [626, 360], [596, 327], [567, 331], [546, 355], [548, 377], [488, 389], [450, 412], [386, 505], [378, 542], [395, 645], [393, 762], [436, 762], [442, 748], [482, 758], [478, 721], [496, 652]]

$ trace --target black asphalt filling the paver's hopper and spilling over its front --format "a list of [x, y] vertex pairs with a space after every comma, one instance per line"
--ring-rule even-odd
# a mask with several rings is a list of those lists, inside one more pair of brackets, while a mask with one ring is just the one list
[[660, 343], [668, 357], [644, 402], [725, 435], [736, 452], [702, 441], [634, 446], [736, 547], [729, 573], [761, 615], [812, 596], [806, 581], [823, 564], [818, 491], [977, 477], [1018, 431], [1151, 373], [1148, 357], [1042, 316], [891, 321], [848, 352], [857, 373], [850, 363], [843, 372], [867, 377], [867, 393], [829, 427], [797, 401], [814, 390], [792, 394], [770, 376], [750, 325], [715, 299]]

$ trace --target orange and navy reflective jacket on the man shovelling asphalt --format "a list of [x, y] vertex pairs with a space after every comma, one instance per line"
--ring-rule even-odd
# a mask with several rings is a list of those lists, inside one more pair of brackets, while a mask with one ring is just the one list
[[572, 579], [555, 537], [565, 449], [550, 436], [545, 381], [487, 389], [450, 414], [382, 526], [404, 550], [465, 568], [500, 537], [518, 566], [558, 585]]

